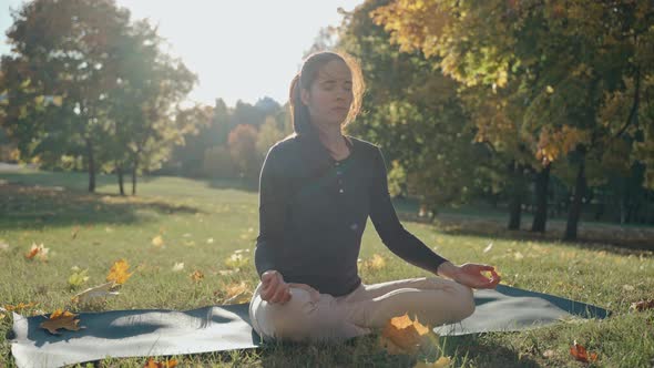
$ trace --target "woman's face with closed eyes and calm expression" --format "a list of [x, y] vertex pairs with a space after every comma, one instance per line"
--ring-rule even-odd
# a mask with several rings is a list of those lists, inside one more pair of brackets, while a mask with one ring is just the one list
[[307, 105], [311, 123], [340, 126], [352, 103], [352, 76], [341, 60], [333, 60], [318, 70], [310, 89], [300, 91], [302, 102]]

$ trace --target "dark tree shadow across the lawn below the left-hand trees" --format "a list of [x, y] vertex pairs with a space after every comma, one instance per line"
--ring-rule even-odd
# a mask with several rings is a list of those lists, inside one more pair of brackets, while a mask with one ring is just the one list
[[195, 207], [144, 197], [0, 184], [0, 229], [99, 223], [134, 224], [147, 222], [149, 215], [198, 212]]

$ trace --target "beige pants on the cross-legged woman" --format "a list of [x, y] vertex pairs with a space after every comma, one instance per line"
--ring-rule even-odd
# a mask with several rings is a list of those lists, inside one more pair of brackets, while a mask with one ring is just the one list
[[440, 277], [420, 277], [365, 285], [339, 297], [306, 284], [290, 284], [290, 300], [262, 299], [259, 283], [249, 318], [264, 340], [337, 341], [371, 333], [405, 313], [432, 327], [459, 321], [474, 311], [472, 290]]

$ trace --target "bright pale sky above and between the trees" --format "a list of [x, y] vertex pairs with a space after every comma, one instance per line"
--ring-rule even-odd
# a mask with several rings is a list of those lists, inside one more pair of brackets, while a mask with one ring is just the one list
[[[22, 0], [0, 0], [0, 53], [8, 53], [4, 32], [9, 9]], [[362, 0], [116, 0], [132, 18], [149, 18], [159, 34], [197, 74], [191, 101], [223, 99], [255, 103], [269, 96], [285, 103], [290, 80], [320, 28], [338, 25], [337, 9], [352, 10]]]

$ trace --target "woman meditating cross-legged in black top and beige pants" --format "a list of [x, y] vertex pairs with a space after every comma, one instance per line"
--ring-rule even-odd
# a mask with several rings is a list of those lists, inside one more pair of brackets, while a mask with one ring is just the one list
[[[259, 183], [260, 283], [249, 317], [265, 340], [343, 340], [405, 313], [431, 326], [454, 323], [474, 310], [471, 288], [500, 280], [491, 266], [453, 265], [400, 224], [380, 150], [341, 133], [362, 91], [359, 67], [335, 52], [308, 57], [292, 82], [295, 134], [268, 151]], [[368, 216], [392, 253], [448, 279], [361, 283], [357, 258]]]

